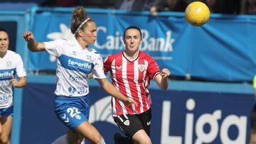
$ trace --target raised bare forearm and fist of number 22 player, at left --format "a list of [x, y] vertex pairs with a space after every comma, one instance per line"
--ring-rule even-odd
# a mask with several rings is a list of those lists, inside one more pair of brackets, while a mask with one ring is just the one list
[[46, 45], [44, 43], [38, 43], [35, 40], [34, 35], [31, 31], [26, 31], [23, 33], [23, 38], [28, 43], [28, 49], [33, 52], [46, 50]]

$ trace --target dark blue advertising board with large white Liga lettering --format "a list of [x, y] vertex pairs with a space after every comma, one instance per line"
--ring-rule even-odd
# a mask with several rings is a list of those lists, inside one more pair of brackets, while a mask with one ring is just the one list
[[[23, 91], [20, 144], [51, 143], [67, 129], [54, 113], [55, 84], [29, 83]], [[159, 144], [248, 143], [252, 94], [150, 89], [151, 140]], [[111, 116], [110, 96], [90, 88], [90, 123], [114, 143], [122, 133]]]

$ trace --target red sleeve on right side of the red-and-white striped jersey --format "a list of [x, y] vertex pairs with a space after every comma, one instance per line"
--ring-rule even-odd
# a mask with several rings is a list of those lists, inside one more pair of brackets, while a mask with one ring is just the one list
[[156, 61], [152, 57], [148, 57], [149, 67], [148, 67], [148, 74], [150, 79], [154, 79], [156, 74], [160, 74], [159, 65], [157, 65]]

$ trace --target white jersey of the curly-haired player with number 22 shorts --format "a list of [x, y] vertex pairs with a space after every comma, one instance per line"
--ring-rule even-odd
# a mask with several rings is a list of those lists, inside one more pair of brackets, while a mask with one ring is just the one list
[[93, 48], [80, 46], [77, 40], [44, 42], [46, 51], [57, 57], [57, 96], [85, 96], [89, 93], [88, 74], [106, 78], [100, 54]]

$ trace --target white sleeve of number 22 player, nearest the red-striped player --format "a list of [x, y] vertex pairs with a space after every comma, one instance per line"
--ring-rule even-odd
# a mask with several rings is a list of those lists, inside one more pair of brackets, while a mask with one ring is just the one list
[[92, 76], [95, 79], [104, 79], [104, 78], [106, 78], [104, 70], [103, 70], [102, 57], [100, 57], [100, 55], [98, 55], [98, 57], [95, 60], [95, 65], [92, 69]]

